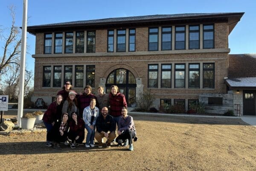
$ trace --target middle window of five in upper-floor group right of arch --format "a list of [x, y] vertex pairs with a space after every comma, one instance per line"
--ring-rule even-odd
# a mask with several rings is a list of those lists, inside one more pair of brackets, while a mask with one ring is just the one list
[[185, 38], [185, 26], [175, 26], [175, 50], [186, 48]]

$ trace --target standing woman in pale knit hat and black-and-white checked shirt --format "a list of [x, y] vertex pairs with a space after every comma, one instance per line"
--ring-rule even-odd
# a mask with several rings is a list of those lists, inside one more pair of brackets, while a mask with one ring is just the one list
[[64, 101], [63, 107], [62, 107], [62, 113], [67, 112], [68, 118], [71, 120], [71, 114], [73, 112], [79, 113], [79, 109], [77, 107], [77, 100], [76, 100], [76, 92], [73, 90], [70, 90], [68, 93], [67, 100]]

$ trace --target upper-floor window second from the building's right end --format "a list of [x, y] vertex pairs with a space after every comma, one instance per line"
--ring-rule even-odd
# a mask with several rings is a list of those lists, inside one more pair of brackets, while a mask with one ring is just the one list
[[199, 25], [189, 25], [189, 49], [199, 49]]

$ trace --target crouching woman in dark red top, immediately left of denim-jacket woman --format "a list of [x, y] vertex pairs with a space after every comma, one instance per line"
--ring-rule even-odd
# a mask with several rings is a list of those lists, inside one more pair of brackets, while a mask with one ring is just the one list
[[72, 141], [70, 147], [76, 148], [76, 144], [82, 143], [84, 140], [84, 120], [77, 117], [77, 113], [71, 114], [72, 119], [69, 121], [70, 130], [68, 132], [68, 138]]

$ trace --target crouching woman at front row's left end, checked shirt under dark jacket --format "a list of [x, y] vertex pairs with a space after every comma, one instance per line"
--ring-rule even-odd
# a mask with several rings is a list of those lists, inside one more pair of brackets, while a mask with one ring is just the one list
[[68, 114], [62, 113], [61, 121], [54, 124], [53, 128], [47, 134], [47, 140], [54, 142], [54, 149], [61, 149], [60, 142], [67, 140]]

